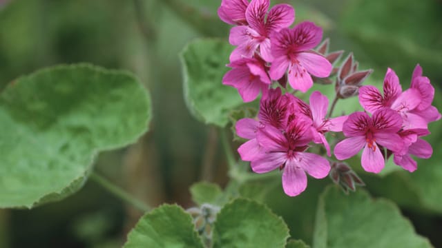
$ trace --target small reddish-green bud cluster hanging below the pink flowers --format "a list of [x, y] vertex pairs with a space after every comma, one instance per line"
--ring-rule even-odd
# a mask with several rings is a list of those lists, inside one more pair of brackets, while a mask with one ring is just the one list
[[354, 172], [351, 167], [343, 162], [333, 162], [329, 176], [332, 178], [334, 183], [343, 189], [345, 194], [348, 194], [350, 190], [354, 192], [356, 190], [356, 186], [365, 186], [365, 183], [356, 174], [356, 172]]

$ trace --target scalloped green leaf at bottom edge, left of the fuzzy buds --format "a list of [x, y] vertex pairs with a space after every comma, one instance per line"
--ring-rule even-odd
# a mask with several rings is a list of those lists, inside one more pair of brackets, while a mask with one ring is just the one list
[[124, 247], [203, 247], [190, 214], [177, 205], [162, 205], [144, 215]]

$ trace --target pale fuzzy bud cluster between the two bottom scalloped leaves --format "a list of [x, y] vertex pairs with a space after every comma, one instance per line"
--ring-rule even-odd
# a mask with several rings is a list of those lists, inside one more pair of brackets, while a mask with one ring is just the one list
[[211, 247], [213, 223], [215, 223], [220, 207], [205, 203], [201, 207], [191, 207], [186, 211], [191, 214], [193, 225], [202, 236], [206, 246]]

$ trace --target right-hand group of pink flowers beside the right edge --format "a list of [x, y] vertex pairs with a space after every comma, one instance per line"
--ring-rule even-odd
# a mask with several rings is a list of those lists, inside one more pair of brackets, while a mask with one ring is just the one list
[[361, 164], [367, 172], [381, 172], [385, 154], [394, 155], [394, 163], [409, 172], [417, 169], [410, 155], [430, 158], [432, 147], [421, 136], [430, 134], [428, 123], [438, 121], [441, 114], [432, 106], [434, 87], [430, 79], [422, 76], [416, 65], [410, 89], [402, 92], [398, 76], [390, 68], [385, 74], [383, 95], [376, 87], [366, 85], [359, 89], [359, 102], [366, 112], [350, 114], [344, 123], [347, 137], [334, 149], [336, 158], [343, 160], [363, 149]]

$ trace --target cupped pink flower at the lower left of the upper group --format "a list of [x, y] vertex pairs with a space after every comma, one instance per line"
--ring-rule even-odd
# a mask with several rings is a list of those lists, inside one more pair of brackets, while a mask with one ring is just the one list
[[265, 61], [260, 58], [240, 59], [228, 65], [233, 68], [222, 78], [224, 85], [231, 85], [238, 89], [242, 100], [250, 102], [256, 99], [262, 91], [267, 93], [271, 81], [267, 75]]

